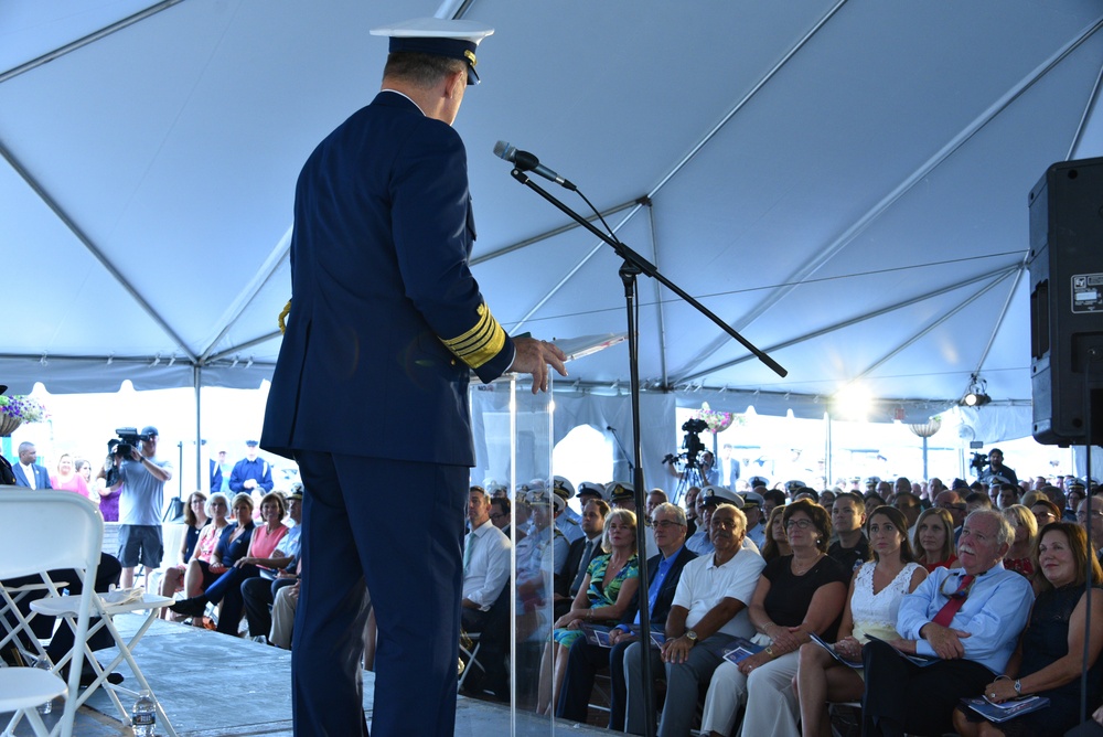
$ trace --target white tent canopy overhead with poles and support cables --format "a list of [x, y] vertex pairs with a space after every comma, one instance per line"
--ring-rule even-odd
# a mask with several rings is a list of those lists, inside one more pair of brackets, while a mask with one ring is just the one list
[[[3, 383], [259, 385], [298, 170], [378, 88], [367, 30], [433, 12], [497, 31], [457, 128], [474, 271], [511, 331], [622, 332], [623, 290], [499, 139], [790, 372], [643, 279], [650, 391], [807, 416], [858, 385], [915, 421], [978, 372], [1029, 402], [1027, 194], [1103, 153], [1095, 0], [9, 0]], [[570, 370], [623, 387], [625, 346]]]

